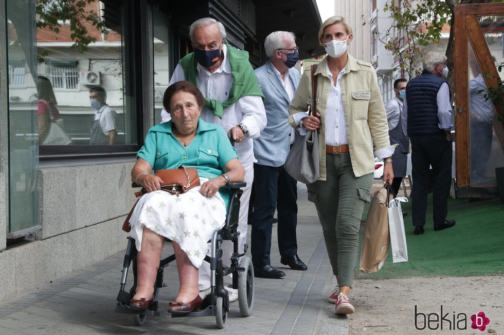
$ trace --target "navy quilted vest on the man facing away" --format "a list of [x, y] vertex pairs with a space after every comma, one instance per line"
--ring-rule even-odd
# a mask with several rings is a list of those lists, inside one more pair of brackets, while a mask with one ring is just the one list
[[408, 136], [435, 134], [439, 129], [439, 88], [446, 81], [432, 72], [423, 71], [408, 82], [406, 99], [408, 104]]

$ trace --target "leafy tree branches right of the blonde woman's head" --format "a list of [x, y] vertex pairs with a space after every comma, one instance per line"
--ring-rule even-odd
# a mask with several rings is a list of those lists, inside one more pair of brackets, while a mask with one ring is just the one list
[[380, 34], [380, 42], [399, 58], [400, 68], [415, 76], [424, 47], [438, 43], [451, 9], [439, 0], [389, 0], [383, 9], [392, 18], [392, 27]]

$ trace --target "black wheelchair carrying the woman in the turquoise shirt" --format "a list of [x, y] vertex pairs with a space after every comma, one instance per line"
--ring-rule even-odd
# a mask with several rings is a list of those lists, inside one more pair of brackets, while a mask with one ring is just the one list
[[[136, 184], [132, 186], [138, 187]], [[254, 266], [250, 258], [244, 256], [248, 246], [245, 244], [243, 253], [240, 253], [238, 250], [238, 235], [240, 234], [240, 232], [237, 231], [238, 214], [240, 211], [240, 197], [243, 192], [240, 188], [245, 186], [246, 183], [229, 183], [227, 185], [231, 191], [231, 196], [227, 208], [226, 223], [224, 227], [213, 232], [212, 238], [209, 241], [211, 243], [210, 257], [206, 255], [204, 260], [210, 264], [210, 294], [203, 300], [201, 311], [192, 311], [183, 314], [172, 313], [172, 318], [214, 316], [217, 327], [220, 329], [224, 328], [230, 306], [229, 295], [223, 282], [224, 277], [231, 273], [232, 288], [238, 289], [238, 304], [241, 315], [243, 317], [248, 317], [252, 313], [254, 308]], [[220, 247], [221, 243], [226, 240], [233, 243], [233, 253], [231, 255], [229, 267], [222, 264], [222, 249]], [[165, 241], [169, 240], [165, 239]], [[115, 311], [117, 313], [132, 314], [134, 324], [141, 326], [145, 322], [147, 316], [160, 315], [157, 300], [159, 288], [166, 287], [166, 284], [163, 283], [164, 269], [169, 263], [175, 260], [175, 255], [172, 254], [165, 259], [161, 258], [157, 270], [156, 281], [154, 283], [154, 303], [151, 305], [151, 308], [146, 311], [132, 310], [129, 306], [130, 300], [135, 294], [137, 283], [136, 255], [135, 240], [128, 237], [128, 247], [123, 261], [121, 288], [117, 295]], [[240, 257], [242, 258], [241, 261], [239, 261]], [[126, 281], [130, 266], [133, 268], [134, 279], [133, 286], [128, 291], [126, 290]]]

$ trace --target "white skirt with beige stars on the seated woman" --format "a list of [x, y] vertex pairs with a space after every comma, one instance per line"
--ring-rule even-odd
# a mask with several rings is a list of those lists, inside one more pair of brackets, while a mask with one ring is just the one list
[[[208, 179], [201, 178], [201, 184]], [[130, 237], [140, 251], [143, 227], [178, 243], [196, 268], [208, 252], [208, 240], [224, 226], [226, 206], [219, 192], [210, 198], [196, 186], [179, 196], [166, 191], [142, 195], [130, 218]]]

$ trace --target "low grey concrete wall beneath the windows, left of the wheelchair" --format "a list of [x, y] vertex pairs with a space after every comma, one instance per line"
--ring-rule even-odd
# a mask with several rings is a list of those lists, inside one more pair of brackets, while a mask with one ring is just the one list
[[[0, 299], [23, 294], [125, 249], [127, 233], [121, 228], [135, 202], [130, 182], [133, 164], [39, 171], [43, 229], [34, 241], [0, 251]], [[0, 199], [5, 196], [0, 194]], [[0, 210], [0, 219], [2, 215], [5, 218]], [[5, 226], [0, 224], [3, 236]]]

